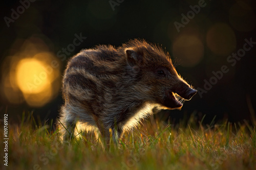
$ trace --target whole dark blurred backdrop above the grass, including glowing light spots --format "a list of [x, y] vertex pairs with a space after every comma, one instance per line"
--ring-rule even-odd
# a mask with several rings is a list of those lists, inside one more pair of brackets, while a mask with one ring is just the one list
[[163, 111], [161, 118], [250, 121], [256, 110], [255, 10], [254, 0], [4, 1], [1, 115], [7, 112], [13, 122], [24, 111], [42, 122], [56, 118], [69, 58], [96, 44], [144, 38], [165, 47], [179, 74], [202, 90], [181, 111]]

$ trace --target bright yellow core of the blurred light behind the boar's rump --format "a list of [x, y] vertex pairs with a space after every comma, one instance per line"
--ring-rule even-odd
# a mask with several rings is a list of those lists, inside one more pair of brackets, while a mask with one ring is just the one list
[[54, 74], [47, 72], [46, 68], [44, 62], [34, 58], [22, 59], [16, 66], [17, 86], [31, 106], [45, 105], [51, 99]]

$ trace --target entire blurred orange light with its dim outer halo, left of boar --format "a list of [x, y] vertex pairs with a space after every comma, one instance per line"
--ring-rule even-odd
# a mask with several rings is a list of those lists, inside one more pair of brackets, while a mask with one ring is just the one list
[[13, 104], [25, 101], [32, 107], [44, 106], [59, 92], [59, 60], [38, 38], [24, 41], [21, 49], [3, 63], [6, 99]]

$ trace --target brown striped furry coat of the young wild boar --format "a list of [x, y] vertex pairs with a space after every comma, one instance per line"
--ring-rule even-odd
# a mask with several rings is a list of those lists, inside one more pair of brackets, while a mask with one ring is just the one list
[[109, 143], [111, 128], [117, 142], [153, 108], [180, 109], [175, 96], [186, 96], [190, 89], [169, 55], [145, 40], [82, 50], [68, 62], [63, 77], [61, 133], [68, 139], [75, 127], [95, 130]]

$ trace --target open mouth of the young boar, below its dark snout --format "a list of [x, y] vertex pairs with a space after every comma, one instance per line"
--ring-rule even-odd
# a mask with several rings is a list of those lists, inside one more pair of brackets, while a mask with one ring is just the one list
[[182, 107], [184, 99], [180, 95], [172, 91], [168, 91], [166, 92], [166, 96], [167, 98], [164, 100], [164, 105], [166, 107], [172, 109]]

